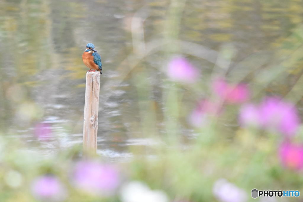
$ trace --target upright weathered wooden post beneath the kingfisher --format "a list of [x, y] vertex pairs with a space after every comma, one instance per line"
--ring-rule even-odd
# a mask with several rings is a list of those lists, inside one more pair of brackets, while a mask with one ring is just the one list
[[100, 72], [86, 73], [84, 121], [83, 121], [83, 151], [85, 154], [96, 154], [98, 134], [98, 112], [100, 93]]

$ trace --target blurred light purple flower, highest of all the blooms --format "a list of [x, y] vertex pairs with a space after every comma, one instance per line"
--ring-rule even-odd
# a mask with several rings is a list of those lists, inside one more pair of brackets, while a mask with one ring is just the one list
[[167, 74], [172, 81], [194, 83], [199, 77], [199, 70], [186, 58], [176, 57], [168, 63]]

